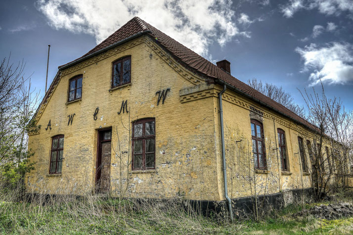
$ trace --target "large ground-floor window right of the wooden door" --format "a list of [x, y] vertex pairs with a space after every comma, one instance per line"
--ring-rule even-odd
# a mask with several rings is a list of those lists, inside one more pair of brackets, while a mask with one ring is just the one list
[[133, 122], [132, 170], [155, 169], [155, 140], [154, 118]]

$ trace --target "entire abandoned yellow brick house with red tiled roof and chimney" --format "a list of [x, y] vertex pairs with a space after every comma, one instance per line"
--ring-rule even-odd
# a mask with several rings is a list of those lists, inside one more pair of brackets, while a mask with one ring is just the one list
[[312, 186], [315, 126], [138, 17], [60, 66], [33, 120], [30, 193], [227, 208], [253, 194], [254, 177], [273, 198]]

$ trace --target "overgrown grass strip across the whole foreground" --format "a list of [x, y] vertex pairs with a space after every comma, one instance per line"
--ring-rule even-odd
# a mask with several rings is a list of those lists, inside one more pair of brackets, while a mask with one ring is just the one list
[[302, 209], [291, 205], [260, 222], [229, 224], [185, 211], [178, 203], [161, 206], [92, 195], [39, 196], [28, 203], [0, 195], [0, 234], [353, 234], [353, 218], [292, 216]]

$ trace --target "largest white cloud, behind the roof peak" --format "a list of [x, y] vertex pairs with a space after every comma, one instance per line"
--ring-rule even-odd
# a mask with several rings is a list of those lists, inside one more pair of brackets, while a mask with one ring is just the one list
[[[37, 7], [55, 29], [107, 38], [134, 16], [206, 56], [208, 46], [221, 46], [241, 36], [231, 0], [38, 0]], [[247, 37], [249, 34], [244, 34]]]

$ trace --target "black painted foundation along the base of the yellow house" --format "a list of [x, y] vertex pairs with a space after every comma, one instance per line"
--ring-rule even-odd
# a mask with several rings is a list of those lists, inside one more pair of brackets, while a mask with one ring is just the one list
[[[34, 198], [41, 196], [43, 203], [55, 201], [56, 195], [34, 195], [28, 194], [27, 201], [32, 201]], [[81, 196], [68, 196], [76, 199], [82, 199]], [[104, 198], [104, 196], [102, 196]], [[108, 198], [108, 197], [107, 197]], [[289, 204], [299, 204], [312, 201], [312, 189], [289, 190], [281, 193], [258, 196], [258, 213], [265, 215], [273, 210], [281, 209]], [[157, 198], [134, 198], [135, 208], [138, 204], [151, 204], [161, 209], [169, 206], [180, 206], [188, 213], [202, 214], [206, 217], [215, 217], [216, 219], [224, 219], [228, 217], [228, 206], [226, 200], [185, 200], [185, 199], [157, 199]], [[239, 197], [232, 199], [233, 215], [237, 219], [248, 218], [254, 214], [255, 197]]]

